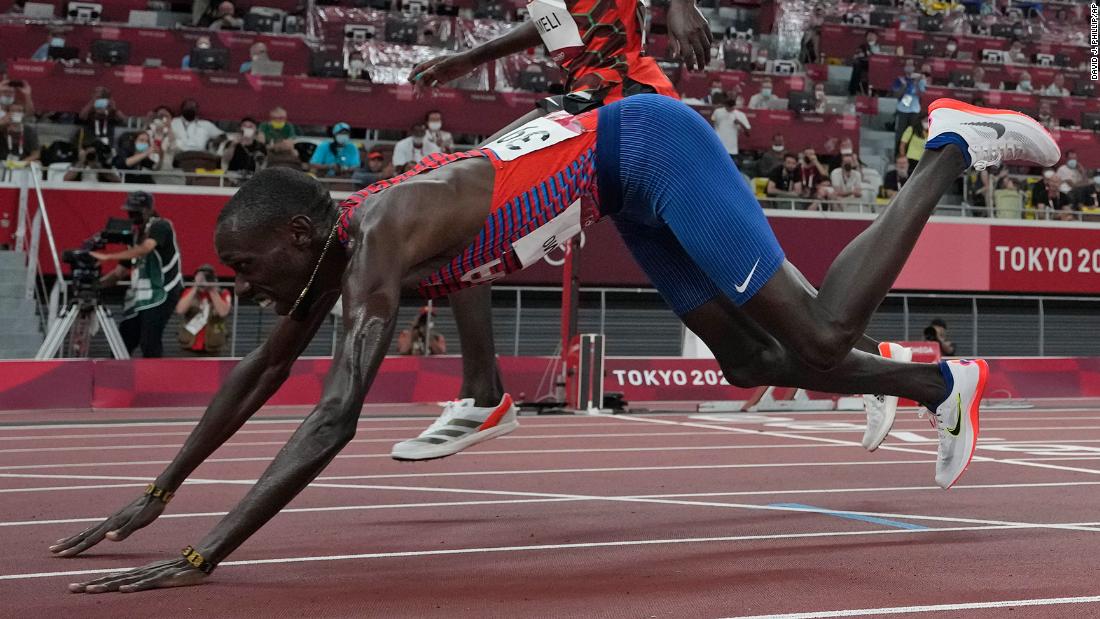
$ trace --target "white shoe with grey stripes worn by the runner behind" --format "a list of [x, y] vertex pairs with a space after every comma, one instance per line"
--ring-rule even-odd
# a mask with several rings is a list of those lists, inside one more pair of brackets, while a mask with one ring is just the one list
[[433, 460], [501, 436], [519, 428], [516, 405], [505, 394], [495, 407], [474, 406], [473, 398], [454, 400], [443, 406], [443, 413], [416, 439], [394, 445], [394, 460]]

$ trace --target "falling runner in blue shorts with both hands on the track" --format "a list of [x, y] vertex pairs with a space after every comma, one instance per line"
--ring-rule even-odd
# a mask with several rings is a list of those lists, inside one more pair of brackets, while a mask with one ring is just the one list
[[[99, 528], [51, 550], [70, 556], [156, 518], [165, 495], [278, 388], [342, 295], [344, 333], [320, 402], [241, 502], [184, 556], [74, 584], [75, 593], [196, 585], [316, 478], [355, 435], [393, 339], [405, 287], [428, 297], [541, 259], [612, 219], [664, 300], [737, 386], [886, 393], [924, 404], [939, 431], [936, 483], [950, 487], [978, 440], [982, 361], [901, 363], [853, 351], [939, 198], [974, 166], [1056, 163], [1057, 144], [1024, 114], [949, 99], [930, 106], [925, 154], [890, 208], [809, 291], [717, 135], [673, 99], [639, 95], [576, 117], [532, 121], [363, 189], [337, 207], [317, 180], [275, 168], [226, 205], [215, 242], [238, 291], [282, 318], [229, 375], [165, 472]], [[654, 154], [659, 154], [654, 156]], [[97, 538], [98, 535], [98, 538]]]

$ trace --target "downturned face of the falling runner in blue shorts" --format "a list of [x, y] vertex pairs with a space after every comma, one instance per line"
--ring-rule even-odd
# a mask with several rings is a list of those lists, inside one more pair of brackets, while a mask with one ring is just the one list
[[318, 256], [301, 232], [289, 225], [262, 233], [233, 231], [223, 223], [215, 235], [218, 259], [233, 269], [237, 294], [286, 316], [309, 280]]

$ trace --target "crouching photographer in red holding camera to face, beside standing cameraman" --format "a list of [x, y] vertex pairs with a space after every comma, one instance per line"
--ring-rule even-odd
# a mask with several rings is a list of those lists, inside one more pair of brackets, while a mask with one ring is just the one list
[[195, 285], [184, 291], [176, 302], [180, 318], [178, 340], [180, 346], [195, 354], [217, 355], [224, 352], [229, 341], [229, 312], [233, 295], [218, 286], [213, 266], [205, 264], [195, 272]]

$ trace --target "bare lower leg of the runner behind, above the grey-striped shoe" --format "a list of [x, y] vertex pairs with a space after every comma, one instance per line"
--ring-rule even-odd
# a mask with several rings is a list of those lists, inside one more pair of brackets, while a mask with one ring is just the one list
[[462, 388], [459, 398], [473, 398], [476, 407], [495, 407], [504, 397], [504, 383], [493, 342], [493, 289], [474, 286], [448, 297], [462, 347]]

